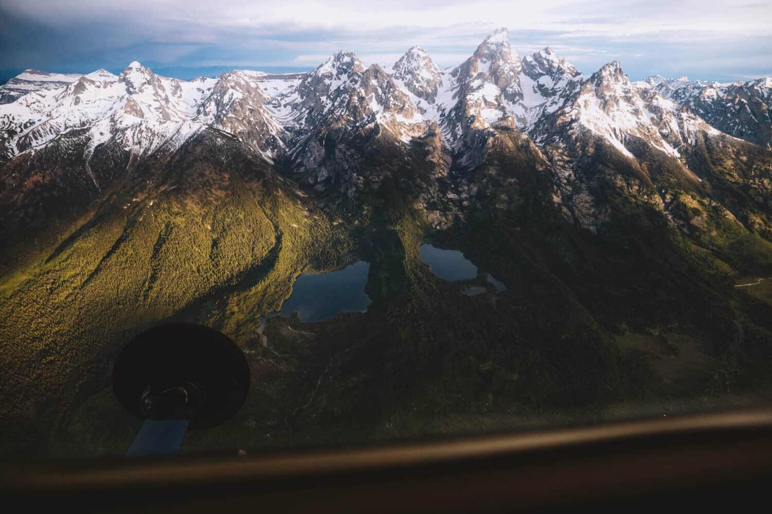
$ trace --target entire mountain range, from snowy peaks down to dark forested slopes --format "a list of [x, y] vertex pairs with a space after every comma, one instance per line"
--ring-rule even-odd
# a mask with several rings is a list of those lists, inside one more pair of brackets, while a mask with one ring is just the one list
[[[254, 353], [253, 445], [764, 394], [772, 300], [735, 285], [772, 275], [770, 88], [587, 75], [506, 29], [449, 69], [414, 46], [190, 81], [27, 70], [0, 87], [2, 417], [30, 447], [86, 437], [120, 344], [168, 320]], [[460, 294], [427, 241], [509, 291]], [[357, 259], [366, 313], [272, 318], [259, 345], [298, 274]]]

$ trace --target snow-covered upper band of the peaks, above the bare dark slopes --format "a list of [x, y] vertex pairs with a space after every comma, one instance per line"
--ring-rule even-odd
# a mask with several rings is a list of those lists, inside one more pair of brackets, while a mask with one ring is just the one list
[[0, 106], [5, 158], [71, 129], [86, 134], [86, 153], [108, 140], [144, 153], [174, 148], [211, 127], [268, 160], [320, 155], [321, 146], [306, 142], [321, 141], [331, 130], [336, 137], [391, 133], [409, 143], [438, 126], [456, 153], [478, 151], [505, 126], [538, 145], [560, 143], [556, 137], [567, 133], [560, 126], [568, 133], [589, 130], [628, 155], [626, 145], [639, 138], [679, 156], [689, 134], [706, 130], [700, 117], [760, 144], [772, 137], [772, 79], [719, 84], [651, 76], [631, 83], [618, 61], [584, 76], [549, 46], [520, 59], [506, 29], [494, 31], [452, 69], [437, 66], [415, 45], [386, 69], [365, 67], [341, 50], [311, 72], [282, 76], [241, 70], [184, 81], [134, 61], [120, 76], [104, 69], [85, 76], [26, 70], [12, 82], [16, 89], [0, 89], [14, 101]]

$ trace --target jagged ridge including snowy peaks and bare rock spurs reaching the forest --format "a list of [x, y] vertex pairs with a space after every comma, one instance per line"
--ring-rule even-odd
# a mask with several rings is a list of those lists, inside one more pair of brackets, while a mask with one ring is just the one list
[[596, 200], [577, 179], [577, 166], [598, 144], [637, 166], [661, 155], [694, 177], [699, 170], [689, 159], [706, 140], [770, 145], [770, 79], [630, 82], [619, 62], [585, 76], [549, 47], [520, 59], [506, 29], [450, 69], [414, 46], [386, 69], [337, 52], [312, 72], [289, 75], [234, 71], [182, 81], [138, 62], [118, 77], [100, 70], [29, 82], [31, 74], [42, 76], [28, 70], [14, 82], [28, 81], [30, 92], [0, 106], [2, 160], [63, 145], [82, 153], [83, 177], [98, 191], [105, 184], [90, 169], [97, 149], [142, 158], [215, 130], [283, 163], [317, 191], [356, 197], [384, 178], [383, 170], [363, 170], [368, 151], [386, 144], [405, 153], [420, 144], [429, 148], [432, 176], [445, 180], [422, 193], [438, 206], [428, 209], [430, 217], [445, 218], [440, 225], [469, 203], [474, 189], [462, 172], [485, 162], [502, 131], [519, 134], [547, 163], [557, 207], [592, 230], [604, 217], [588, 207]]

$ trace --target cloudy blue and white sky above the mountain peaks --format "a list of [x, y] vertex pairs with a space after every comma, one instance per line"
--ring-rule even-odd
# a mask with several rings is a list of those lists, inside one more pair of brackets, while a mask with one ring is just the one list
[[584, 72], [737, 80], [772, 76], [770, 20], [753, 0], [0, 0], [0, 69], [388, 64], [411, 45], [454, 66], [506, 26], [521, 55], [550, 45]]

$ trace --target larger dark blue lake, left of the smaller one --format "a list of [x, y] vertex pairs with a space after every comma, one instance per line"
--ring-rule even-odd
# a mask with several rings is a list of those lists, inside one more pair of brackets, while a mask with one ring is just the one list
[[339, 312], [364, 312], [370, 298], [364, 293], [370, 263], [361, 260], [329, 273], [304, 273], [282, 304], [281, 316], [297, 312], [300, 321], [326, 321]]

